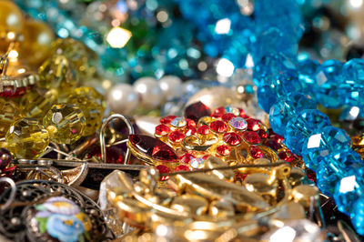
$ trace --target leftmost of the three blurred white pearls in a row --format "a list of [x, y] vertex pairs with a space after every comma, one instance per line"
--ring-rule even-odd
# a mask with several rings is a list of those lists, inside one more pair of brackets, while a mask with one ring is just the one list
[[110, 107], [110, 111], [130, 115], [139, 103], [138, 98], [133, 86], [118, 84], [110, 89], [106, 97], [106, 102]]

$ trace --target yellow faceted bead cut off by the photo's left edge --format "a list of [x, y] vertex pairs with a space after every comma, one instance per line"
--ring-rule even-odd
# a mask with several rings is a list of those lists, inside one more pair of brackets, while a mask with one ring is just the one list
[[9, 127], [20, 117], [19, 108], [14, 102], [0, 98], [0, 137], [4, 137]]

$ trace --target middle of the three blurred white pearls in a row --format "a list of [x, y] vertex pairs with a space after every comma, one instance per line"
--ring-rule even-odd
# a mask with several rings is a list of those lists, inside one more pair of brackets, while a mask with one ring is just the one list
[[163, 100], [162, 90], [153, 77], [141, 77], [136, 80], [134, 90], [141, 99], [139, 106], [145, 109], [153, 109], [160, 105]]

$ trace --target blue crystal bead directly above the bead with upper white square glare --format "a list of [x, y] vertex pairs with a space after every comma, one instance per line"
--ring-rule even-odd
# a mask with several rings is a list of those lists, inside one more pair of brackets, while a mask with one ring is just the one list
[[282, 96], [270, 108], [269, 124], [280, 136], [285, 135], [288, 120], [295, 117], [300, 110], [315, 109], [316, 103], [300, 93], [290, 93]]

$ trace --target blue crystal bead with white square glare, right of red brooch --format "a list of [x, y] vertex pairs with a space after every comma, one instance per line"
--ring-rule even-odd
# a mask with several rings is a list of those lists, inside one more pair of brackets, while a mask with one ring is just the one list
[[319, 162], [325, 156], [337, 150], [349, 151], [351, 145], [351, 138], [343, 129], [326, 126], [323, 129], [315, 129], [306, 138], [302, 149], [302, 158], [308, 168], [316, 171]]

